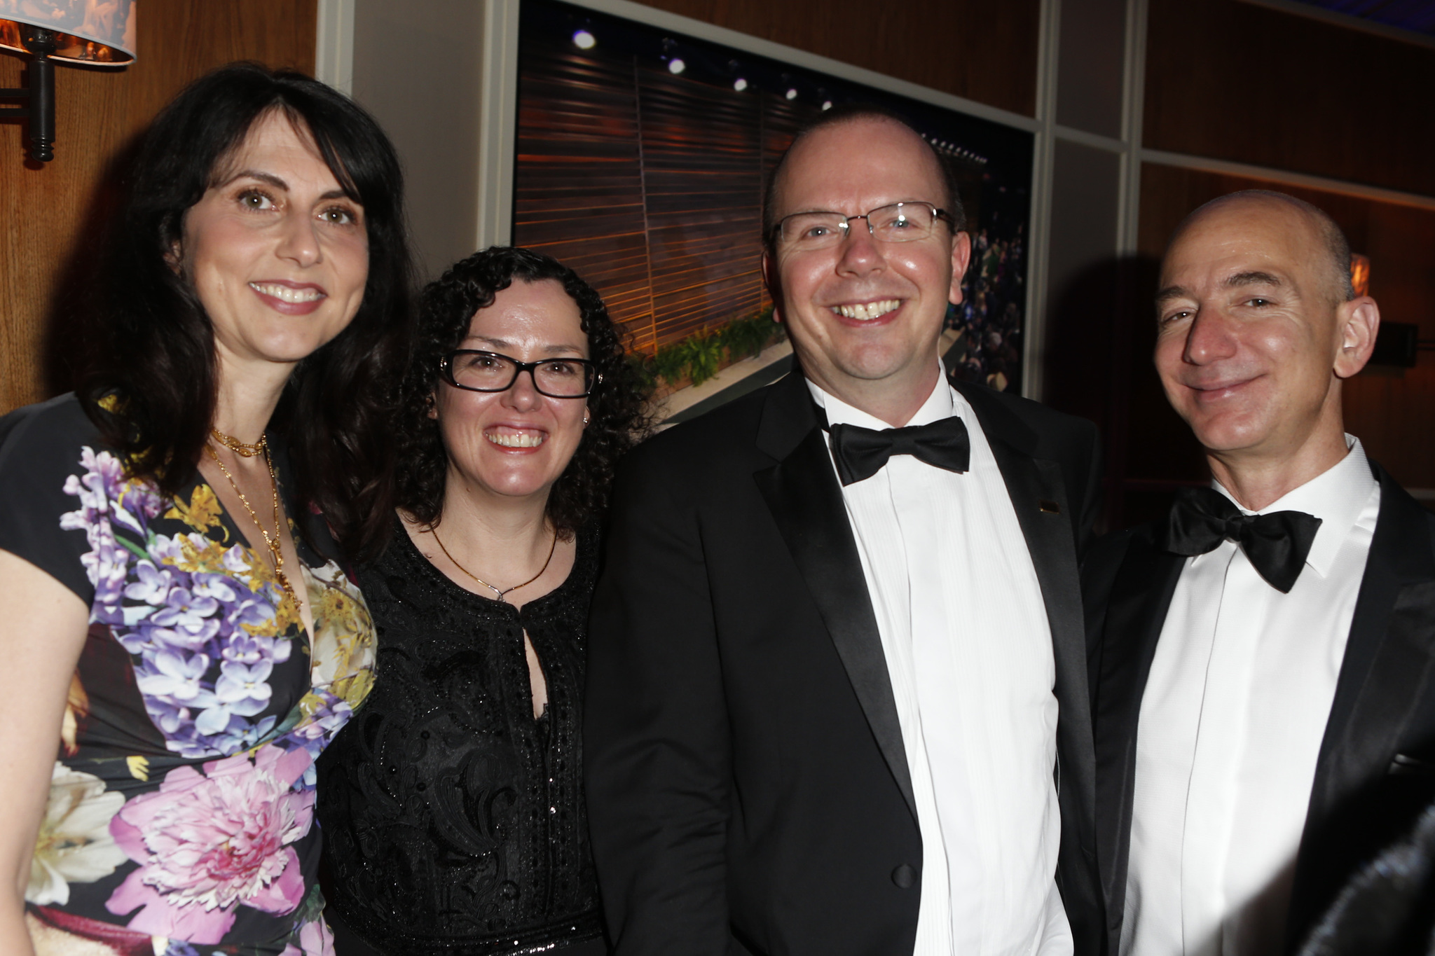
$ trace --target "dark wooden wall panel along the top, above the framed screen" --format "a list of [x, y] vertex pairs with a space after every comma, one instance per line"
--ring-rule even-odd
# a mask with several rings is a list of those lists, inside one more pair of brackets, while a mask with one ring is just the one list
[[643, 3], [1015, 113], [1036, 112], [1039, 0]]

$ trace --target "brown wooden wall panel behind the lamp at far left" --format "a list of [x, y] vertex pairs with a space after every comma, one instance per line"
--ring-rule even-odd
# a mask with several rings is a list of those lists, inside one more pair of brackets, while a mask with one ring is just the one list
[[[113, 195], [106, 175], [187, 83], [232, 60], [311, 73], [317, 0], [144, 0], [138, 60], [121, 72], [57, 66], [55, 161], [24, 159], [23, 126], [0, 123], [0, 413], [63, 391], [63, 343], [50, 330], [90, 274]], [[0, 53], [0, 86], [24, 59]]]

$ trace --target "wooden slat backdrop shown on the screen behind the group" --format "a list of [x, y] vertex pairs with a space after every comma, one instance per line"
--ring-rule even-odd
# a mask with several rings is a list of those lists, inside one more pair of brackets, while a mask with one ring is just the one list
[[762, 308], [765, 172], [812, 107], [525, 40], [514, 244], [583, 275], [651, 353]]

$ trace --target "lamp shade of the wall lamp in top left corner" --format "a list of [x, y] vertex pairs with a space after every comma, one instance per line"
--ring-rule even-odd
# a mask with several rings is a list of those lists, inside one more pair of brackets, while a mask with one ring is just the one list
[[0, 0], [0, 47], [24, 53], [22, 24], [53, 30], [50, 56], [92, 66], [135, 59], [135, 0]]

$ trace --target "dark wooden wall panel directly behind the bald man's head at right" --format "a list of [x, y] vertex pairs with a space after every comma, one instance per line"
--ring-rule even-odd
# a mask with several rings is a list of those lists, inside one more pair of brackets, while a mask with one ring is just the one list
[[[1435, 212], [1360, 196], [1274, 185], [1241, 176], [1174, 169], [1141, 169], [1142, 258], [1155, 264], [1171, 232], [1191, 209], [1237, 189], [1279, 189], [1325, 209], [1340, 225], [1355, 252], [1370, 257], [1370, 294], [1382, 318], [1415, 322], [1421, 338], [1435, 338]], [[1138, 295], [1155, 294], [1149, 268]], [[1151, 310], [1147, 310], [1151, 315]], [[1154, 321], [1135, 324], [1129, 370], [1128, 482], [1200, 480], [1204, 463], [1195, 440], [1165, 401], [1151, 350]], [[1415, 368], [1372, 367], [1343, 387], [1346, 430], [1408, 487], [1435, 487], [1435, 355], [1421, 353]], [[1129, 522], [1128, 522], [1129, 523]]]

